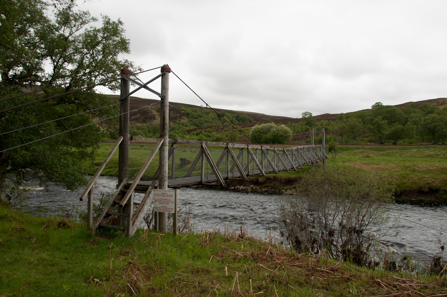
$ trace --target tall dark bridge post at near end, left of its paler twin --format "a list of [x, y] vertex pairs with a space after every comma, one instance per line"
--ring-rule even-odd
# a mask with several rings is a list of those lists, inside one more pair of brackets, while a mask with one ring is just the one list
[[[121, 76], [130, 74], [130, 70], [124, 67], [121, 70]], [[130, 92], [130, 81], [121, 78], [121, 95], [120, 95], [120, 136], [123, 141], [120, 144], [118, 152], [118, 184], [129, 177], [129, 105], [130, 97], [124, 97]], [[123, 98], [124, 97], [124, 98]]]

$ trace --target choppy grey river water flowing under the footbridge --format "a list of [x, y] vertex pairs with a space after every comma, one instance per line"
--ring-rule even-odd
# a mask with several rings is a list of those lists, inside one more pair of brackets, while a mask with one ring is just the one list
[[[101, 176], [95, 183], [93, 201], [116, 188], [117, 178]], [[37, 180], [26, 186], [29, 199], [20, 205], [22, 211], [36, 215], [70, 216], [75, 209], [86, 210], [86, 199], [79, 201], [83, 190], [70, 192], [50, 183], [41, 187]], [[143, 194], [137, 194], [140, 202]], [[188, 209], [191, 223], [196, 231], [220, 228], [240, 229], [243, 226], [252, 236], [266, 239], [276, 236], [281, 241], [278, 230], [278, 213], [275, 195], [246, 194], [228, 191], [213, 191], [184, 188], [178, 190], [179, 211]], [[440, 246], [447, 241], [447, 206], [390, 205], [389, 215], [397, 220], [382, 238], [388, 251], [408, 252], [413, 258], [427, 263], [440, 252]], [[380, 233], [380, 229], [375, 230]]]

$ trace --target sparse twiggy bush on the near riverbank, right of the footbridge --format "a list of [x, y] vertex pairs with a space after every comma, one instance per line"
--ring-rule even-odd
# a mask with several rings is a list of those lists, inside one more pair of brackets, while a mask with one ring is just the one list
[[373, 226], [386, 223], [392, 187], [372, 172], [327, 167], [309, 171], [295, 195], [279, 198], [280, 231], [298, 252], [367, 265], [378, 235]]

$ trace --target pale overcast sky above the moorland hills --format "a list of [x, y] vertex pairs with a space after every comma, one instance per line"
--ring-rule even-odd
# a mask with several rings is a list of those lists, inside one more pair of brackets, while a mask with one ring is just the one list
[[[447, 97], [446, 0], [90, 0], [126, 59], [216, 108], [300, 118]], [[145, 82], [158, 74], [140, 76]], [[159, 80], [150, 84], [159, 89]], [[146, 90], [135, 96], [155, 98]], [[203, 104], [173, 74], [169, 100]]]

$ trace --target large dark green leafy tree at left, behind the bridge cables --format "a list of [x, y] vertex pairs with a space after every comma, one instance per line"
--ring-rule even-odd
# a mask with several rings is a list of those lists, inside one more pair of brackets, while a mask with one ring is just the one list
[[[120, 20], [102, 16], [102, 25], [96, 27], [96, 18], [87, 11], [78, 10], [71, 0], [2, 0], [0, 7], [0, 98], [65, 84], [39, 95], [2, 101], [0, 109], [95, 83], [105, 84], [119, 77], [116, 70], [133, 66], [118, 58], [129, 53], [129, 40], [123, 35]], [[104, 74], [106, 72], [108, 74]], [[79, 79], [90, 76], [92, 78]], [[108, 86], [117, 89], [119, 80]], [[5, 133], [37, 125], [111, 103], [116, 101], [92, 89], [77, 91], [1, 113], [0, 131]], [[50, 138], [0, 152], [0, 190], [4, 193], [6, 187], [20, 187], [32, 173], [42, 183], [56, 181], [70, 190], [85, 184], [79, 159], [93, 157], [107, 126], [89, 125], [51, 136], [117, 113], [117, 106], [107, 107], [1, 135], [0, 150]]]

